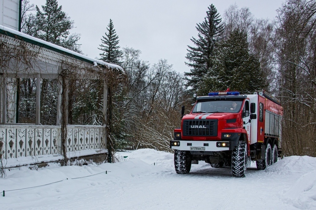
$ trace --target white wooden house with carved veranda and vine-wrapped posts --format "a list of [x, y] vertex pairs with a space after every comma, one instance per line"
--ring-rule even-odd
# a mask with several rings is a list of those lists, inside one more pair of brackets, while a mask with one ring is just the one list
[[[35, 124], [20, 124], [16, 123], [15, 120], [17, 88], [12, 80], [17, 77], [36, 78], [36, 81], [41, 81], [42, 78], [58, 79], [65, 62], [78, 63], [79, 66], [82, 66], [78, 69], [78, 74], [83, 78], [86, 77], [83, 69], [87, 68], [90, 72], [106, 72], [111, 69], [123, 71], [118, 65], [91, 59], [19, 32], [20, 6], [20, 0], [0, 0], [0, 45], [5, 43], [6, 47], [11, 46], [13, 52], [20, 45], [19, 43], [23, 43], [28, 51], [36, 54], [36, 58], [32, 60], [31, 70], [25, 66], [23, 61], [15, 59], [15, 57], [10, 58], [6, 63], [2, 62], [0, 64], [0, 159], [5, 167], [57, 161], [63, 159], [65, 155], [61, 151], [62, 117], [67, 115], [67, 110], [61, 109], [63, 81], [58, 86], [56, 125], [44, 126], [40, 123], [40, 82], [36, 83]], [[105, 84], [105, 81], [103, 82]], [[103, 115], [106, 119], [106, 84], [103, 92]], [[67, 124], [66, 129], [65, 146], [68, 158], [92, 155], [106, 156], [105, 125]]]

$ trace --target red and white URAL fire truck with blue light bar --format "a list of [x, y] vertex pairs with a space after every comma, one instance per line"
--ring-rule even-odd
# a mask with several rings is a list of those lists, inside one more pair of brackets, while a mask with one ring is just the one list
[[182, 107], [181, 128], [174, 129], [177, 173], [189, 173], [198, 161], [212, 167], [231, 166], [234, 177], [244, 177], [250, 162], [264, 170], [281, 154], [283, 108], [265, 91], [209, 93], [196, 98], [190, 114]]

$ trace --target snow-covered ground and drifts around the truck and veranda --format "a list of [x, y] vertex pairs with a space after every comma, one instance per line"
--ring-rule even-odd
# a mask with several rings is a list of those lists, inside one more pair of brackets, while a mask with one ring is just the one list
[[252, 162], [245, 178], [205, 162], [177, 174], [173, 154], [151, 149], [117, 157], [112, 164], [7, 169], [0, 209], [316, 209], [314, 157], [285, 157], [265, 171]]

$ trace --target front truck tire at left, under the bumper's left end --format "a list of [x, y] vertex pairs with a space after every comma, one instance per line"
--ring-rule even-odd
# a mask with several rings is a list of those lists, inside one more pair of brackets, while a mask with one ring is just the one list
[[174, 150], [174, 168], [177, 173], [189, 173], [191, 161], [190, 151]]

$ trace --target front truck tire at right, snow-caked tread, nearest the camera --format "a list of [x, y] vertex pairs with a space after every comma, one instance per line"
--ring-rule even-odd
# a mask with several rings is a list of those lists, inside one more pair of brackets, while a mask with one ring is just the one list
[[232, 153], [232, 173], [234, 177], [246, 176], [247, 144], [239, 141]]

